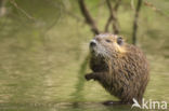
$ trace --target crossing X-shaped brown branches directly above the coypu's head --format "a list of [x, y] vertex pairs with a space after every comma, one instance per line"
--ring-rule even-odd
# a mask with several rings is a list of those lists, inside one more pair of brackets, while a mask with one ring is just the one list
[[115, 4], [115, 8], [113, 8], [110, 4], [110, 1], [106, 0], [107, 6], [109, 10], [109, 17], [108, 17], [107, 23], [105, 25], [105, 31], [106, 32], [108, 31], [108, 27], [109, 27], [110, 22], [113, 22], [114, 33], [119, 33], [119, 27], [118, 27], [118, 20], [117, 20], [116, 14], [117, 14], [117, 10], [118, 10], [118, 6], [120, 4], [120, 1], [121, 0], [118, 0]]

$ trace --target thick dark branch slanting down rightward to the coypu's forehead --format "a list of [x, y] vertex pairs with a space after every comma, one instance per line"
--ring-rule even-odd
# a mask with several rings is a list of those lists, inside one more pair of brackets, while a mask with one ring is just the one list
[[93, 31], [94, 34], [99, 34], [100, 33], [99, 28], [96, 27], [95, 22], [91, 17], [83, 0], [78, 0], [78, 3], [80, 6], [80, 11], [86, 18], [87, 24], [91, 27], [91, 30]]

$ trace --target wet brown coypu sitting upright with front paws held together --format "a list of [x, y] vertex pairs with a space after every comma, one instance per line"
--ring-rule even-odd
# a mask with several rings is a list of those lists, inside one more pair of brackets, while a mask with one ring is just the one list
[[141, 103], [150, 75], [147, 60], [139, 47], [116, 34], [103, 33], [90, 42], [90, 54], [93, 72], [86, 74], [87, 80], [99, 81], [120, 99], [118, 103], [133, 103], [133, 98]]

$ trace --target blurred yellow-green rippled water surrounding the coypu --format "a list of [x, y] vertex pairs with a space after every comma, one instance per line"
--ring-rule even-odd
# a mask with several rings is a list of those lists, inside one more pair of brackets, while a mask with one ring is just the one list
[[[28, 11], [34, 15], [34, 10]], [[139, 46], [146, 53], [151, 65], [151, 81], [144, 98], [169, 102], [169, 25], [166, 18], [158, 15], [147, 17], [148, 14], [144, 13], [139, 32], [142, 36]], [[47, 18], [42, 17], [44, 23], [43, 19], [31, 22], [23, 16], [14, 14], [0, 18], [0, 110], [130, 110], [130, 106], [103, 106], [105, 100], [118, 99], [98, 82], [83, 79], [83, 74], [91, 71], [87, 55], [88, 42], [93, 37], [87, 25], [67, 15], [58, 19], [50, 18], [56, 18], [57, 14], [46, 15]], [[126, 17], [120, 19], [121, 33], [130, 37], [130, 14], [123, 12], [119, 16]], [[156, 23], [159, 19], [164, 20]], [[130, 42], [130, 38], [126, 39]]]

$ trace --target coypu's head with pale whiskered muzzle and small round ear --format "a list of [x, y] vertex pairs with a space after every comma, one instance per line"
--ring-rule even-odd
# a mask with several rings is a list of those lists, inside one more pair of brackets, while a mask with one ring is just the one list
[[125, 41], [116, 34], [98, 34], [90, 42], [90, 51], [95, 56], [112, 57], [126, 52]]

